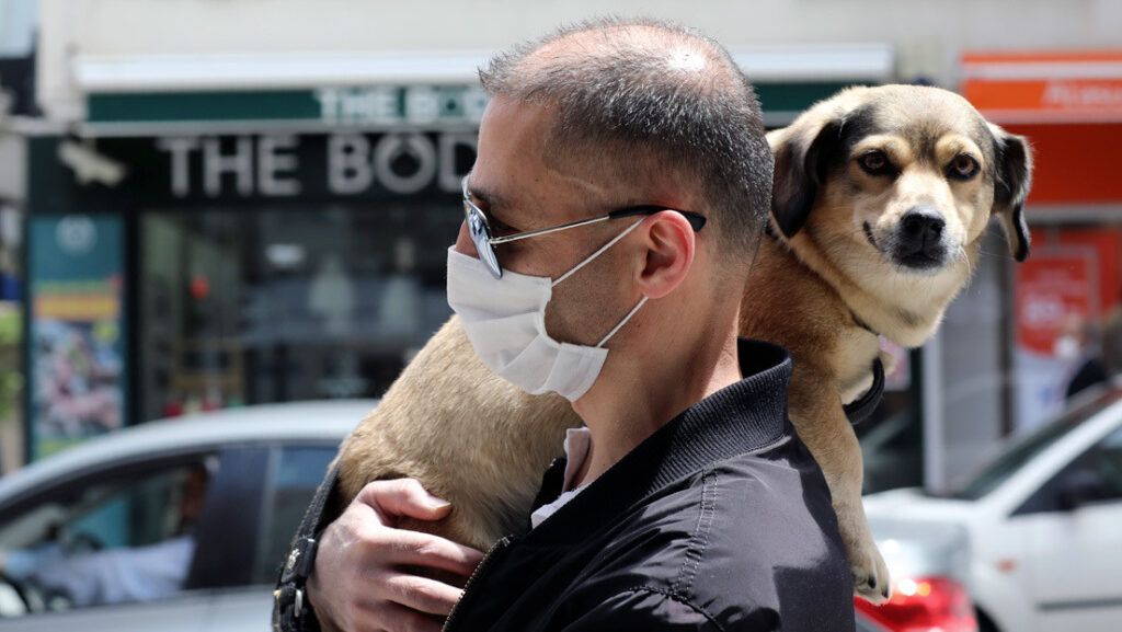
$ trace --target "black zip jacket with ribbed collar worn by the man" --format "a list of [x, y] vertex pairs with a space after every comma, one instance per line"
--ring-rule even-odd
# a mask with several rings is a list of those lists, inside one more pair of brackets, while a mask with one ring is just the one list
[[[791, 359], [742, 340], [739, 361], [743, 381], [496, 544], [445, 630], [854, 630], [830, 494], [787, 418]], [[539, 505], [563, 471], [546, 473]]]

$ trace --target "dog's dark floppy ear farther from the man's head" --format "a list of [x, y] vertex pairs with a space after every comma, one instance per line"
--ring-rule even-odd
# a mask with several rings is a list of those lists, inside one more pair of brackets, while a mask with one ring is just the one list
[[1005, 230], [1013, 258], [1023, 262], [1029, 256], [1029, 225], [1024, 221], [1024, 199], [1032, 184], [1032, 149], [1023, 136], [1009, 134], [990, 123], [994, 138], [996, 173], [994, 174], [993, 214]]

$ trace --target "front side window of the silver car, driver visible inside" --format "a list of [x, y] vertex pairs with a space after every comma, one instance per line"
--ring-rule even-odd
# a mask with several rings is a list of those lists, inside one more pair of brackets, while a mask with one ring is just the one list
[[194, 553], [193, 528], [217, 461], [70, 482], [0, 522], [3, 580], [24, 614], [176, 594]]

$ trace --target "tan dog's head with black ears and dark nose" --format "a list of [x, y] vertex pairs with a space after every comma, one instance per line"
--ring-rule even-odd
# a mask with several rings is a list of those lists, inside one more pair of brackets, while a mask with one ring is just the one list
[[958, 94], [852, 89], [769, 140], [775, 226], [789, 239], [807, 232], [843, 268], [938, 275], [967, 257], [992, 217], [1013, 257], [1028, 256], [1028, 143]]

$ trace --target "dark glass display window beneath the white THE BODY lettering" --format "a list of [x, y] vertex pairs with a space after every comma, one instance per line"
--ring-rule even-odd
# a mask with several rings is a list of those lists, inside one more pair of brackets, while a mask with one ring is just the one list
[[376, 397], [448, 320], [454, 201], [149, 210], [140, 416]]

